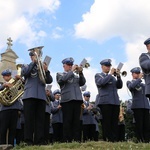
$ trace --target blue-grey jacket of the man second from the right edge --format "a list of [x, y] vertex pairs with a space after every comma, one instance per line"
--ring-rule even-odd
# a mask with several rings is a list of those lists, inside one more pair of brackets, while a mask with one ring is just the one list
[[141, 79], [127, 81], [127, 87], [132, 93], [132, 106], [131, 108], [145, 108], [150, 109], [149, 100], [145, 96], [145, 85]]

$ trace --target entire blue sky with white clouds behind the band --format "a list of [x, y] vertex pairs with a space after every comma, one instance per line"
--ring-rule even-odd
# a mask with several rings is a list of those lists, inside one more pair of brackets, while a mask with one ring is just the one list
[[139, 66], [138, 57], [146, 52], [143, 41], [149, 37], [148, 0], [1, 0], [0, 52], [7, 48], [7, 38], [13, 40], [17, 63], [29, 63], [28, 49], [43, 45], [43, 58], [52, 57], [49, 69], [54, 78], [53, 90], [58, 88], [56, 72], [63, 71], [61, 61], [73, 57], [79, 64], [88, 59], [84, 69], [87, 90], [95, 99], [97, 89], [94, 75], [101, 72], [99, 62], [111, 58], [113, 67], [124, 63], [124, 87], [120, 99], [131, 98], [126, 81], [130, 70]]

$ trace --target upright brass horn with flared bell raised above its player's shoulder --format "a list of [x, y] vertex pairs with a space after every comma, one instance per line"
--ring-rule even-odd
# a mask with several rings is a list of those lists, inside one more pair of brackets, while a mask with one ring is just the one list
[[46, 83], [46, 74], [45, 70], [43, 68], [43, 62], [42, 62], [42, 48], [44, 46], [34, 47], [32, 49], [29, 49], [28, 51], [31, 51], [35, 54], [36, 60], [37, 60], [37, 68], [38, 68], [38, 74], [39, 78], [42, 81], [42, 83]]

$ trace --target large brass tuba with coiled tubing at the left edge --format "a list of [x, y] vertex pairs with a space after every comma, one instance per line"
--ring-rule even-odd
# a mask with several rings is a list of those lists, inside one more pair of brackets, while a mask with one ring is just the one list
[[[21, 65], [17, 65], [17, 75], [21, 75]], [[22, 78], [13, 79], [11, 78], [8, 82], [12, 84], [11, 87], [5, 87], [0, 91], [0, 103], [5, 106], [12, 105], [18, 98], [24, 93], [24, 81]]]

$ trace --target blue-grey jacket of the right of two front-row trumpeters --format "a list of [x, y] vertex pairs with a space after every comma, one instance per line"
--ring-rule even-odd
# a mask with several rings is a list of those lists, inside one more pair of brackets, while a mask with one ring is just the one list
[[123, 86], [120, 77], [117, 77], [116, 80], [111, 74], [97, 73], [95, 75], [95, 83], [98, 89], [97, 105], [120, 105], [117, 93], [117, 89], [121, 89]]

